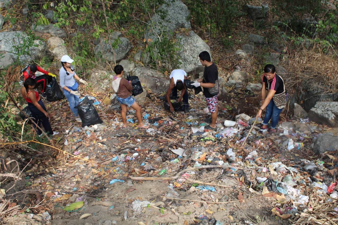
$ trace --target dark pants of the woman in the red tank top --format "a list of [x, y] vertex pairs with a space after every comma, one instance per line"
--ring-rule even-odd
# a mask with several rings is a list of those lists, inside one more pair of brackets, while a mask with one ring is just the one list
[[[41, 105], [41, 107], [47, 111], [45, 105], [43, 104], [43, 102], [41, 100], [38, 101], [39, 105]], [[46, 133], [49, 134], [53, 134], [53, 130], [52, 127], [50, 126], [49, 123], [49, 118], [45, 116], [45, 114], [42, 113], [42, 111], [40, 111], [37, 107], [35, 107], [35, 105], [33, 105], [32, 103], [28, 102], [28, 107], [29, 110], [32, 113], [32, 117], [34, 118], [33, 121], [38, 124], [39, 127], [42, 126], [45, 128]], [[35, 124], [33, 124], [34, 129], [36, 129], [37, 127], [35, 126]], [[37, 134], [40, 135], [42, 134], [40, 129], [37, 129]]]

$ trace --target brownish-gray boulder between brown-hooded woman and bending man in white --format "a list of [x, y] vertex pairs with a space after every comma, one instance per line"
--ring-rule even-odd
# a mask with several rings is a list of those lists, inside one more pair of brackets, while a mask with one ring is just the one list
[[166, 77], [156, 70], [146, 67], [137, 67], [131, 71], [131, 75], [138, 76], [141, 85], [146, 89], [150, 89], [153, 93], [160, 94], [168, 90], [170, 82], [169, 76]]

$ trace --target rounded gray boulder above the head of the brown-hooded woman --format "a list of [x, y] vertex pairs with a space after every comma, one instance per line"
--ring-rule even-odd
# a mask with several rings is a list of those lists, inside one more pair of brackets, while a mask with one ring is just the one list
[[122, 37], [121, 32], [113, 32], [111, 35], [111, 42], [113, 48], [114, 45], [117, 44], [117, 47], [114, 50], [111, 49], [111, 45], [109, 43], [102, 42], [102, 46], [101, 43], [95, 46], [95, 56], [98, 58], [102, 57], [107, 61], [114, 61], [115, 51], [115, 60], [116, 62], [119, 62], [126, 57], [127, 53], [132, 48], [130, 41], [127, 38]]

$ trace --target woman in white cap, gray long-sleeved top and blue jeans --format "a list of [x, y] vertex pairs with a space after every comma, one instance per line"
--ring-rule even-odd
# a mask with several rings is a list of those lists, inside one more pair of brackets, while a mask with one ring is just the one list
[[[77, 109], [75, 106], [79, 104], [79, 95], [80, 93], [77, 91], [79, 84], [75, 81], [78, 80], [79, 82], [87, 85], [88, 83], [79, 76], [76, 75], [74, 72], [74, 67], [72, 62], [74, 60], [69, 57], [69, 55], [64, 55], [61, 58], [61, 65], [59, 75], [60, 75], [60, 86], [63, 88], [63, 92], [68, 100], [70, 110], [75, 116], [76, 121], [81, 122], [81, 119], [78, 117]], [[75, 79], [74, 79], [75, 78]]]

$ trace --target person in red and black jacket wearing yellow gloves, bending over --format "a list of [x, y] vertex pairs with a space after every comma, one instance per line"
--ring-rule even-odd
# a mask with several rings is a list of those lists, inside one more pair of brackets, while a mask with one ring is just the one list
[[[35, 76], [35, 72], [41, 72], [41, 73], [44, 73], [44, 75], [41, 75], [41, 76]], [[46, 70], [43, 70], [41, 67], [37, 66], [36, 64], [30, 64], [26, 70], [23, 71], [23, 77], [24, 77], [24, 80], [26, 80], [27, 78], [32, 78], [34, 79], [35, 81], [37, 81], [37, 86], [36, 88], [41, 85], [42, 86], [42, 89], [41, 89], [41, 92], [42, 92], [42, 96], [44, 96], [44, 93], [46, 91], [46, 85], [52, 81], [52, 77], [55, 77], [56, 76]]]

